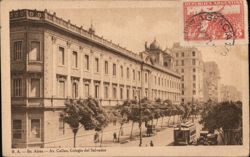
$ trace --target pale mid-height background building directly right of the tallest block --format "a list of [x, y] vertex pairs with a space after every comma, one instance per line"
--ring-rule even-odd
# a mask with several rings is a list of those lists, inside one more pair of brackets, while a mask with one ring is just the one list
[[204, 101], [219, 101], [220, 71], [215, 62], [204, 63]]

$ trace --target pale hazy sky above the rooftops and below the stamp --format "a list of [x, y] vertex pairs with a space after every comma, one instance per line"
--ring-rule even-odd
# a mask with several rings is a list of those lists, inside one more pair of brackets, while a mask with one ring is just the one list
[[[70, 19], [72, 24], [88, 29], [91, 23], [96, 34], [119, 43], [135, 53], [144, 50], [145, 41], [156, 39], [161, 48], [171, 48], [180, 42], [181, 16], [176, 5], [135, 8], [85, 8], [85, 9], [50, 9], [58, 17]], [[221, 83], [233, 85], [238, 90], [244, 86], [242, 79], [247, 78], [247, 46], [233, 46], [226, 56], [220, 54], [220, 46], [211, 48], [196, 46], [204, 61], [215, 61], [220, 70]]]

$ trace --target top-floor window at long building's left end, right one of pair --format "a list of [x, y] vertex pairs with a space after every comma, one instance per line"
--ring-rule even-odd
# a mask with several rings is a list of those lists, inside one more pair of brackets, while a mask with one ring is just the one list
[[29, 52], [30, 61], [39, 61], [40, 60], [40, 42], [32, 41], [30, 45]]

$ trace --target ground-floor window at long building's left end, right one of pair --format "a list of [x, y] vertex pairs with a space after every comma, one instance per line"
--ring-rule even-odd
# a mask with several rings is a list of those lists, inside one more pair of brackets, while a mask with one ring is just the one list
[[30, 139], [40, 139], [40, 119], [31, 119], [30, 124]]

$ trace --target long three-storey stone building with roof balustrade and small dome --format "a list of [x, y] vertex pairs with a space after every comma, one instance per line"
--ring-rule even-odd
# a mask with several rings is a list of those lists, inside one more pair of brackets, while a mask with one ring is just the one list
[[56, 146], [71, 134], [59, 116], [67, 98], [91, 95], [103, 106], [136, 96], [180, 103], [173, 58], [154, 42], [136, 54], [96, 35], [93, 26], [24, 9], [10, 12], [10, 45], [13, 147]]

